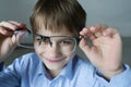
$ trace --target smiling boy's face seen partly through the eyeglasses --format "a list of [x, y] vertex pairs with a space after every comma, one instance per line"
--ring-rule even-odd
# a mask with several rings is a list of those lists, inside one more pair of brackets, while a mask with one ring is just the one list
[[73, 35], [67, 32], [66, 28], [62, 28], [62, 30], [59, 33], [52, 33], [43, 28], [38, 29], [36, 34], [47, 37], [55, 36], [51, 38], [45, 38], [39, 42], [38, 40], [40, 37], [36, 36], [34, 46], [36, 53], [49, 71], [61, 71], [70, 61], [70, 59], [72, 59], [75, 54], [74, 51], [71, 51], [72, 46], [74, 46], [74, 40], [71, 38], [67, 39], [67, 37], [58, 36], [72, 37]]

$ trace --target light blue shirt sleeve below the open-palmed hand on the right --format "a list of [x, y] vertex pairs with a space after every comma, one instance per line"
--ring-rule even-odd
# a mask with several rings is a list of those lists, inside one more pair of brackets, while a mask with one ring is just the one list
[[96, 78], [99, 86], [104, 87], [130, 87], [131, 86], [131, 69], [129, 65], [124, 64], [126, 70], [112, 77], [110, 80], [104, 78], [103, 74], [97, 72]]

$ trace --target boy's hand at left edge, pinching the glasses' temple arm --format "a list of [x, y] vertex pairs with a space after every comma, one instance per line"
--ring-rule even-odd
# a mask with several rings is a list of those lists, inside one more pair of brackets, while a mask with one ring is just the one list
[[[14, 32], [21, 28], [22, 32], [14, 35]], [[20, 37], [25, 33], [25, 25], [14, 21], [3, 21], [0, 23], [0, 63], [13, 51], [16, 47]]]

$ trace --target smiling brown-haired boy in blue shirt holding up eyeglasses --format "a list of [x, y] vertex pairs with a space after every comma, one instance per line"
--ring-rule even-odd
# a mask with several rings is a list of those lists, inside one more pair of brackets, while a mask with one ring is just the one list
[[[102, 25], [85, 27], [85, 20], [86, 13], [76, 0], [38, 0], [31, 15], [35, 52], [20, 57], [1, 71], [0, 86], [131, 86], [131, 70], [121, 62], [118, 32]], [[22, 32], [14, 35], [17, 28]], [[25, 32], [24, 24], [0, 23], [1, 66]], [[75, 54], [78, 45], [91, 63]]]

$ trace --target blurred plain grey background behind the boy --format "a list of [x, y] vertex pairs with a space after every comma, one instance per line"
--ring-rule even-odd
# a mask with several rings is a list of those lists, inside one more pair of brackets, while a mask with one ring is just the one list
[[[0, 22], [17, 21], [29, 28], [29, 14], [37, 0], [1, 0]], [[78, 0], [87, 12], [86, 26], [105, 24], [117, 27], [123, 41], [123, 62], [131, 65], [131, 0]], [[29, 38], [28, 38], [29, 39]], [[26, 41], [27, 39], [25, 39]], [[114, 48], [112, 48], [114, 50]], [[15, 57], [33, 51], [16, 48], [7, 64]], [[80, 55], [84, 57], [79, 50]]]

